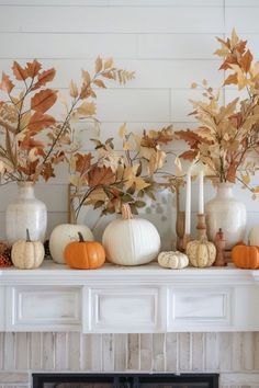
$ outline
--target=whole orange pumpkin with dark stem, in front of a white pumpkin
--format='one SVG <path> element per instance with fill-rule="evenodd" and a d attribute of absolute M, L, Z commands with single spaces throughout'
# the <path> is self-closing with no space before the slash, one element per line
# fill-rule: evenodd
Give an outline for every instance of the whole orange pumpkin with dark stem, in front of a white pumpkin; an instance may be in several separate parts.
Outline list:
<path fill-rule="evenodd" d="M 66 263 L 72 269 L 95 270 L 103 265 L 105 251 L 100 242 L 85 241 L 78 232 L 79 241 L 70 242 L 64 252 Z"/>

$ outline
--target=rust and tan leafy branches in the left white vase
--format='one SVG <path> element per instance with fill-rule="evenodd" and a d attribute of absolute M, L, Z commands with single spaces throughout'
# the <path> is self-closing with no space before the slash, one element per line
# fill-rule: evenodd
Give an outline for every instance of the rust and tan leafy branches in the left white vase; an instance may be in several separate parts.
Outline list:
<path fill-rule="evenodd" d="M 98 57 L 92 77 L 82 70 L 80 87 L 70 82 L 70 101 L 65 103 L 65 117 L 58 119 L 49 114 L 58 99 L 57 90 L 46 87 L 55 78 L 55 69 L 43 70 L 42 64 L 33 60 L 25 67 L 14 61 L 12 71 L 14 80 L 3 72 L 0 82 L 4 94 L 0 101 L 2 182 L 55 176 L 55 167 L 65 160 L 65 148 L 71 142 L 71 121 L 95 115 L 93 87 L 105 88 L 105 79 L 125 83 L 134 78 L 134 72 L 115 68 L 112 58 Z"/>

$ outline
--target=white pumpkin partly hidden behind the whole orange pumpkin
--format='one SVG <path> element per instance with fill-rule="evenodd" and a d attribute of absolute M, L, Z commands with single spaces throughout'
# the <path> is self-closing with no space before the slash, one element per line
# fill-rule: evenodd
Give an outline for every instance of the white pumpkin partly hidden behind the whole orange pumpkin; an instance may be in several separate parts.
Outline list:
<path fill-rule="evenodd" d="M 58 264 L 65 264 L 64 251 L 71 241 L 78 241 L 78 232 L 81 232 L 85 241 L 93 241 L 93 235 L 86 225 L 61 224 L 53 229 L 49 238 L 49 251 L 53 260 Z"/>

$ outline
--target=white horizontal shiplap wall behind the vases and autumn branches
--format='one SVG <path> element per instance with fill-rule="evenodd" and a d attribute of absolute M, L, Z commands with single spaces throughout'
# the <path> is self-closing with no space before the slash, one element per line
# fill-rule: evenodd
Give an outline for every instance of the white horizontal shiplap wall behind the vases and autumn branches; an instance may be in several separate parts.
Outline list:
<path fill-rule="evenodd" d="M 70 79 L 79 80 L 80 69 L 91 69 L 99 54 L 113 56 L 117 66 L 135 70 L 136 79 L 98 93 L 101 136 L 116 136 L 123 122 L 136 132 L 171 122 L 182 128 L 193 125 L 188 99 L 201 94 L 191 82 L 206 78 L 217 87 L 223 80 L 213 56 L 215 35 L 224 37 L 236 26 L 259 57 L 258 18 L 257 0 L 0 0 L 0 69 L 8 71 L 13 59 L 37 58 L 57 69 L 53 87 L 66 92 Z M 226 99 L 233 94 L 227 91 Z M 89 147 L 86 139 L 83 145 Z M 63 169 L 50 187 L 37 189 L 49 210 L 48 232 L 67 219 L 65 182 Z M 193 192 L 195 212 L 196 187 Z M 0 192 L 1 237 L 14 193 L 14 186 Z M 240 187 L 236 193 L 247 205 L 249 226 L 258 224 L 258 201 Z M 212 196 L 207 185 L 206 199 Z"/>

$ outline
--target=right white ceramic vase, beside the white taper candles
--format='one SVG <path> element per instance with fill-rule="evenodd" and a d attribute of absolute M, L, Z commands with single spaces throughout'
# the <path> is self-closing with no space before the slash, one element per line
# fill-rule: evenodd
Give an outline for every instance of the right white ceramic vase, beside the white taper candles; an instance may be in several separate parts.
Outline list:
<path fill-rule="evenodd" d="M 216 196 L 206 204 L 209 239 L 214 241 L 219 228 L 225 233 L 226 249 L 244 240 L 247 224 L 246 206 L 233 195 L 232 183 L 219 183 Z"/>

